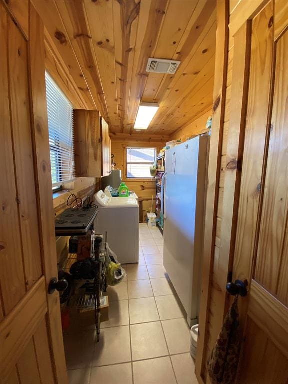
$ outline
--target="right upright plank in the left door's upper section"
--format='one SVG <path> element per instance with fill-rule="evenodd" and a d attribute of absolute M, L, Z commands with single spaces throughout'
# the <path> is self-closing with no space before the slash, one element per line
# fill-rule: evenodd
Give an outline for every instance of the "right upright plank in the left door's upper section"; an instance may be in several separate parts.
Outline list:
<path fill-rule="evenodd" d="M 27 289 L 42 274 L 38 234 L 37 201 L 29 108 L 27 42 L 9 17 L 8 70 L 11 125 L 18 209 L 21 224 L 25 285 Z M 34 236 L 31 236 L 34 233 Z"/>

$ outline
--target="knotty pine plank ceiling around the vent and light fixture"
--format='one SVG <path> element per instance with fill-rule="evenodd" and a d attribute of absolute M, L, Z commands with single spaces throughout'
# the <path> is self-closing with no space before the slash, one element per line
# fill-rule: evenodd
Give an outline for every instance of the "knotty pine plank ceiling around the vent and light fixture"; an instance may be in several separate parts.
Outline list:
<path fill-rule="evenodd" d="M 97 108 L 111 133 L 135 133 L 140 101 L 160 108 L 147 131 L 167 135 L 212 107 L 214 0 L 35 0 L 46 63 L 75 108 Z M 180 60 L 174 75 L 148 57 Z"/>

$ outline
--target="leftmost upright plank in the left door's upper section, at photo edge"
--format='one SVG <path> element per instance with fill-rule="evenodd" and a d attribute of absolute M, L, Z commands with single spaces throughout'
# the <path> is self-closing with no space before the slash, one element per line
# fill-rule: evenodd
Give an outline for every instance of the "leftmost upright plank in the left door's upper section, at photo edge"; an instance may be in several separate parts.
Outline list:
<path fill-rule="evenodd" d="M 8 85 L 8 17 L 1 8 L 1 304 L 3 317 L 26 292 L 14 173 Z"/>

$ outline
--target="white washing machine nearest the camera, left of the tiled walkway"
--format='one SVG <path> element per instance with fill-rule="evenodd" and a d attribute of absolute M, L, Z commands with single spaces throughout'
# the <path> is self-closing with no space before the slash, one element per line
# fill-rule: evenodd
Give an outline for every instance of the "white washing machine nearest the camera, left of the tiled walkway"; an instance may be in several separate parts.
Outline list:
<path fill-rule="evenodd" d="M 95 233 L 105 234 L 121 264 L 139 262 L 139 205 L 134 197 L 109 197 L 99 190 L 93 197 L 98 205 Z"/>

